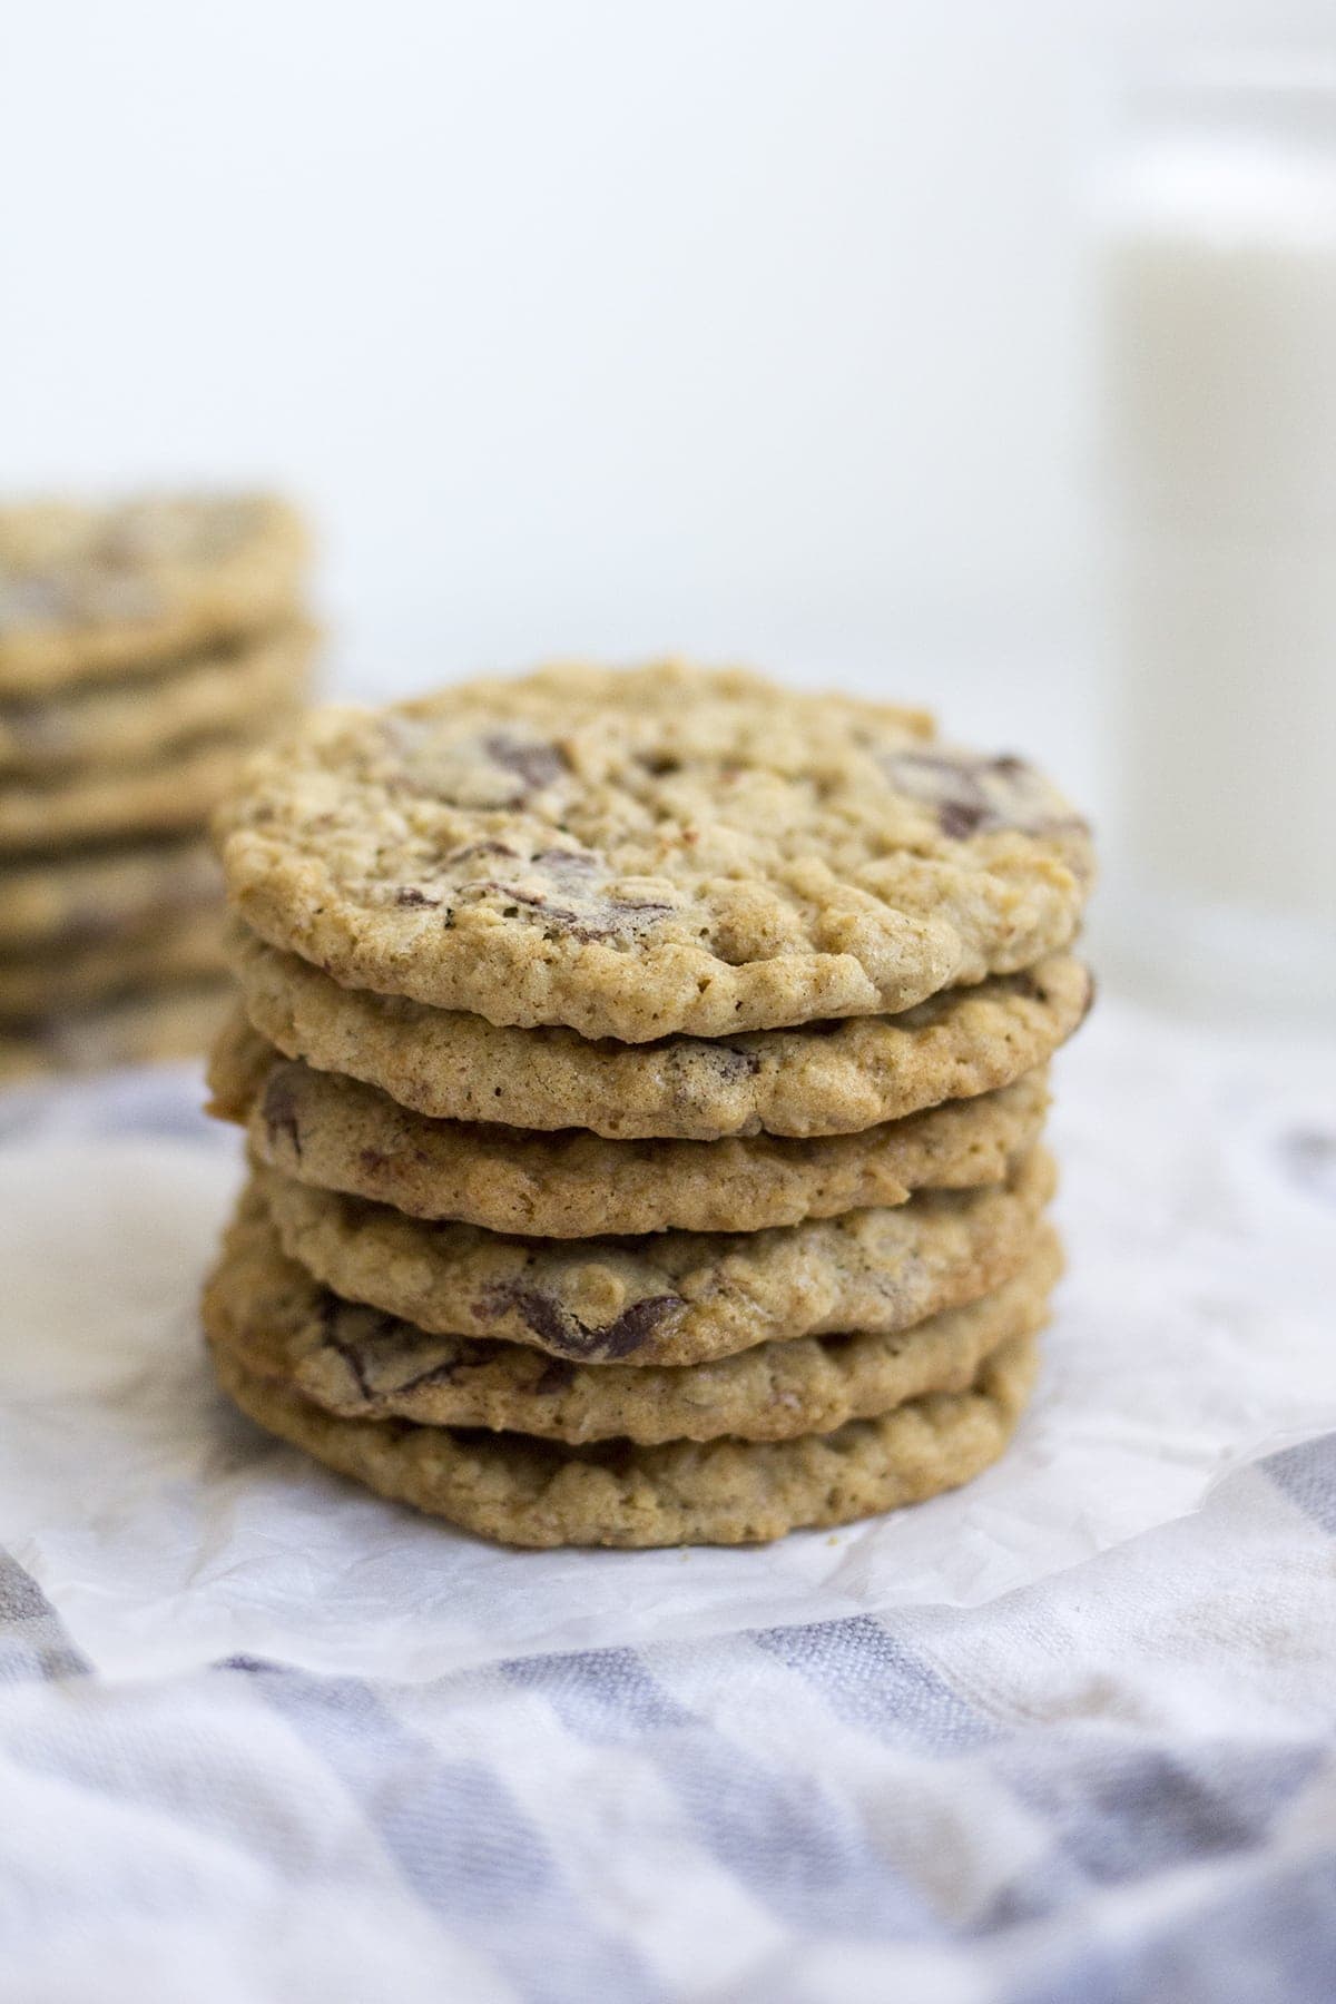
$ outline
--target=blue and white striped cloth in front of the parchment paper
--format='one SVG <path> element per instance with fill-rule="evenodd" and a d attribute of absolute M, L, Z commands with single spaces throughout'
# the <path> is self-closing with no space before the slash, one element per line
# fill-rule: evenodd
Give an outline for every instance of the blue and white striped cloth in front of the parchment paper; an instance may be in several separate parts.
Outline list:
<path fill-rule="evenodd" d="M 0 1621 L 24 2004 L 1336 1996 L 1336 1435 L 967 1611 L 413 1685 Z"/>

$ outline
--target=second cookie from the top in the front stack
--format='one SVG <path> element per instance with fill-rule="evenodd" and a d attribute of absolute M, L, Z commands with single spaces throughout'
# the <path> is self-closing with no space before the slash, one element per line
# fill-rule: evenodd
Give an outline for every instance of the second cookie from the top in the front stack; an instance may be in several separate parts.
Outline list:
<path fill-rule="evenodd" d="M 343 988 L 246 926 L 232 926 L 228 958 L 250 1022 L 288 1058 L 437 1120 L 583 1126 L 609 1140 L 849 1134 L 993 1092 L 1044 1064 L 1092 994 L 1086 968 L 1056 954 L 901 1016 L 615 1044 Z"/>

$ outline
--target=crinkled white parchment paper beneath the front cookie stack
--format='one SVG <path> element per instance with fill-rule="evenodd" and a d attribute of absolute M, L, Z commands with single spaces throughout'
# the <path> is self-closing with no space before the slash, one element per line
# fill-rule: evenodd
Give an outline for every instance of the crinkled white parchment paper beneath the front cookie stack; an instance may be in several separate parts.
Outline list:
<path fill-rule="evenodd" d="M 513 1553 L 270 1443 L 196 1295 L 240 1180 L 188 1072 L 0 1100 L 0 1541 L 110 1675 L 230 1655 L 425 1679 L 903 1603 L 971 1605 L 1336 1427 L 1336 1056 L 1106 1002 L 1058 1064 L 1070 1277 L 1008 1459 L 765 1549 Z"/>

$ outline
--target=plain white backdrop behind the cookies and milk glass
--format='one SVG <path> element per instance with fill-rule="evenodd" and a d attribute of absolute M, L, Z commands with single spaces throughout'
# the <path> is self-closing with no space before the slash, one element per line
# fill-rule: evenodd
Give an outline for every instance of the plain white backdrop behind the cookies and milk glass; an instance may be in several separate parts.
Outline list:
<path fill-rule="evenodd" d="M 677 647 L 1098 792 L 1080 180 L 1130 56 L 1330 0 L 42 0 L 8 489 L 270 479 L 335 675 Z"/>

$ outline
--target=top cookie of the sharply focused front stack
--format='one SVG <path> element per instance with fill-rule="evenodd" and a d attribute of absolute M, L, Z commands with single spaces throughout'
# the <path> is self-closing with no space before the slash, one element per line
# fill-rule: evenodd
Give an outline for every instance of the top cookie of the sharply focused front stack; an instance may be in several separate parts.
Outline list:
<path fill-rule="evenodd" d="M 1020 760 L 673 661 L 316 711 L 218 840 L 246 922 L 347 986 L 631 1044 L 1014 972 L 1070 942 L 1092 874 Z"/>

